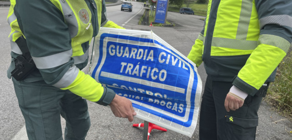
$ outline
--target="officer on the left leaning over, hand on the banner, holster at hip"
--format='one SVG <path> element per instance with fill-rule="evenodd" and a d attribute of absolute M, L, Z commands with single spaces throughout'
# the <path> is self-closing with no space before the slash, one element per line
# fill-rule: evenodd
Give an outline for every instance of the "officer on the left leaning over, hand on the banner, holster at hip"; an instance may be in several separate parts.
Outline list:
<path fill-rule="evenodd" d="M 82 72 L 101 26 L 121 28 L 106 17 L 104 0 L 11 0 L 11 65 L 29 139 L 85 139 L 90 127 L 85 99 L 109 105 L 116 117 L 136 115 L 132 103 Z M 82 99 L 85 98 L 85 99 Z"/>

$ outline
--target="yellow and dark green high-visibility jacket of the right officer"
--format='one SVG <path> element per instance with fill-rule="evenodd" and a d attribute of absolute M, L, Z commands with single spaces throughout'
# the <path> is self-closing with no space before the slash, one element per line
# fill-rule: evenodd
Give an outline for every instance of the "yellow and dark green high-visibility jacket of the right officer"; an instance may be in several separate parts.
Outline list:
<path fill-rule="evenodd" d="M 291 0 L 209 0 L 188 58 L 203 61 L 213 80 L 254 95 L 291 46 L 291 7 Z"/>

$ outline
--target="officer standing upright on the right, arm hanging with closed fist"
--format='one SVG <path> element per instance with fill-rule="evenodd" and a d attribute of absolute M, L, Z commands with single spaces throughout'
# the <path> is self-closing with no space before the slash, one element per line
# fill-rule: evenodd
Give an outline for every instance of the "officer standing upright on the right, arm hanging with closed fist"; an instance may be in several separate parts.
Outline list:
<path fill-rule="evenodd" d="M 207 80 L 200 140 L 252 140 L 257 111 L 292 42 L 291 0 L 210 0 L 188 58 Z"/>

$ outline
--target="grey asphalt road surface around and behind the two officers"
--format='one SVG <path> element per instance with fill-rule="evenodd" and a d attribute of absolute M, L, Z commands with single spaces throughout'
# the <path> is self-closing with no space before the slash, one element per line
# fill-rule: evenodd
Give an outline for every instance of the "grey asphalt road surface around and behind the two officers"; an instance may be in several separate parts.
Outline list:
<path fill-rule="evenodd" d="M 107 7 L 108 18 L 126 29 L 152 30 L 155 34 L 169 43 L 171 46 L 187 56 L 202 30 L 204 18 L 196 15 L 184 15 L 175 12 L 168 12 L 167 19 L 177 24 L 174 27 L 149 27 L 138 25 L 139 18 L 143 15 L 143 3 L 133 2 L 133 11 L 120 11 L 120 6 Z M 10 63 L 10 33 L 9 25 L 6 21 L 8 8 L 0 7 L 0 82 L 1 82 L 1 102 L 0 102 L 0 139 L 1 140 L 26 140 L 24 119 L 18 108 L 17 98 L 14 93 L 13 84 L 6 76 L 6 70 Z M 203 65 L 198 68 L 199 75 L 204 83 L 206 73 Z M 204 84 L 203 84 L 204 87 Z M 133 122 L 127 119 L 116 118 L 110 108 L 99 106 L 88 101 L 91 127 L 86 139 L 88 140 L 137 140 L 143 139 L 143 128 L 133 128 L 133 123 L 141 123 L 143 120 L 135 118 Z M 292 122 L 271 111 L 266 103 L 262 103 L 259 114 L 259 126 L 257 127 L 257 140 L 291 140 Z M 64 121 L 62 121 L 64 126 Z M 198 127 L 191 138 L 168 130 L 162 132 L 152 130 L 150 140 L 198 140 Z M 200 126 L 204 127 L 204 126 Z"/>

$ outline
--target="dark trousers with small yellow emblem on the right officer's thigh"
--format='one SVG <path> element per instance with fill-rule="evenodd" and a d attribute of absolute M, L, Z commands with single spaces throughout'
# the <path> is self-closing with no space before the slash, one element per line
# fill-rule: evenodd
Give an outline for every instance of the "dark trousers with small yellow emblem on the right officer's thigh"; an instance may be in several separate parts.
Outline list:
<path fill-rule="evenodd" d="M 257 111 L 262 97 L 248 95 L 241 108 L 227 112 L 224 101 L 232 82 L 213 81 L 207 76 L 202 97 L 200 140 L 254 140 Z"/>

